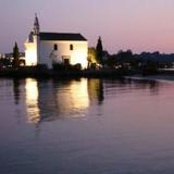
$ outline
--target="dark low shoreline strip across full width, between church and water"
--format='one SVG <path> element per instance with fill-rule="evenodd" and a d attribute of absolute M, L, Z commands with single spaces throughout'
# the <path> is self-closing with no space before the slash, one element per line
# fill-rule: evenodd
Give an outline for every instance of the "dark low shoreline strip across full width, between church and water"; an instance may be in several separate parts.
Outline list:
<path fill-rule="evenodd" d="M 117 79 L 141 79 L 141 80 L 167 80 L 174 82 L 174 72 L 158 72 L 157 74 L 144 75 L 140 72 L 130 70 L 63 70 L 53 71 L 38 67 L 20 67 L 18 70 L 0 70 L 0 78 L 117 78 Z"/>

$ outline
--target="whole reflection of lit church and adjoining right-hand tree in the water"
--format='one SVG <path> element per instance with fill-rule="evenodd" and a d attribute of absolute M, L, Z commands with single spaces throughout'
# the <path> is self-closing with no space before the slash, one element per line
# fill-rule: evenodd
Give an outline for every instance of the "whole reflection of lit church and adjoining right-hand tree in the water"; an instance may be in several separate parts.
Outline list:
<path fill-rule="evenodd" d="M 84 117 L 94 102 L 103 101 L 101 79 L 36 80 L 25 84 L 26 111 L 29 123 L 63 117 Z"/>

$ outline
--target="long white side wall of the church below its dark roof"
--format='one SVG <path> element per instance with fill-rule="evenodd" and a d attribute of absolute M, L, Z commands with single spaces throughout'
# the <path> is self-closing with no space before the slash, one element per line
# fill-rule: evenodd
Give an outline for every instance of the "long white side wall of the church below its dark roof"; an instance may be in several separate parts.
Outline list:
<path fill-rule="evenodd" d="M 58 45 L 58 50 L 54 50 L 54 45 Z M 73 45 L 73 50 L 70 49 Z M 47 64 L 49 69 L 52 63 L 62 63 L 63 57 L 70 58 L 72 65 L 80 63 L 83 69 L 87 67 L 87 41 L 40 41 L 40 64 Z"/>

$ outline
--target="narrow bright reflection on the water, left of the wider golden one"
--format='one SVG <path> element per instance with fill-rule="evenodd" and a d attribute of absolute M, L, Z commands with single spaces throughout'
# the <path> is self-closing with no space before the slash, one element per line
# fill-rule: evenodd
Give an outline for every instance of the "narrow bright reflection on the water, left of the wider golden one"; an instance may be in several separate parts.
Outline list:
<path fill-rule="evenodd" d="M 40 110 L 38 107 L 38 83 L 36 79 L 27 78 L 25 84 L 26 111 L 29 123 L 40 121 Z"/>

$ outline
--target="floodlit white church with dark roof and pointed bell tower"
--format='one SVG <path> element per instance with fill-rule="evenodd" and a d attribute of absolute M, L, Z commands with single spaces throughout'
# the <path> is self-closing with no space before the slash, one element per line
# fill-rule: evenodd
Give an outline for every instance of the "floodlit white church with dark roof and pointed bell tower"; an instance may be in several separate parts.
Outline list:
<path fill-rule="evenodd" d="M 80 34 L 73 33 L 42 33 L 37 15 L 34 29 L 25 41 L 25 65 L 45 64 L 52 69 L 52 64 L 79 63 L 87 67 L 88 42 Z"/>

